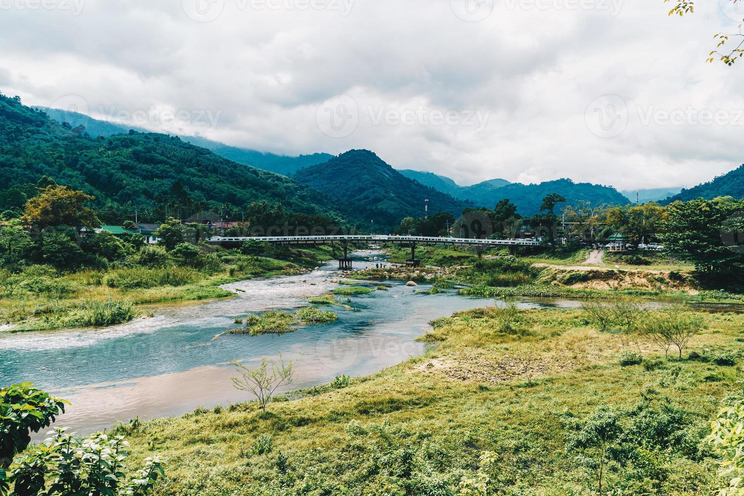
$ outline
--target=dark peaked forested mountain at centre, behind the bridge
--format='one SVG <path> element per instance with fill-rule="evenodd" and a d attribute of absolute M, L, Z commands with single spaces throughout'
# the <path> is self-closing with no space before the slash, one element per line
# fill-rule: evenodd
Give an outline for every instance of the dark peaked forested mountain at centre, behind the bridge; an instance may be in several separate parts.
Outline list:
<path fill-rule="evenodd" d="M 363 149 L 306 167 L 292 177 L 334 196 L 362 219 L 373 220 L 381 228 L 393 228 L 404 217 L 423 216 L 425 199 L 429 199 L 430 213 L 447 211 L 459 216 L 466 206 L 465 202 L 405 177 Z"/>

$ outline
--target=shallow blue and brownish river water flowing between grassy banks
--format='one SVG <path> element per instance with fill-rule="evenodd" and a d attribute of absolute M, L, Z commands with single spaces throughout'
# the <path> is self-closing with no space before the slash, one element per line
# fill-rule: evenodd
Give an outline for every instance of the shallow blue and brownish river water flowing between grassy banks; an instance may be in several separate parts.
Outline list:
<path fill-rule="evenodd" d="M 365 257 L 379 254 L 365 253 Z M 32 381 L 72 405 L 57 422 L 85 434 L 139 416 L 152 419 L 251 399 L 234 389 L 230 361 L 262 357 L 296 363 L 291 389 L 364 376 L 423 352 L 414 341 L 434 318 L 493 300 L 455 291 L 423 294 L 429 286 L 389 283 L 388 291 L 350 297 L 356 310 L 328 307 L 339 319 L 283 335 L 222 335 L 234 318 L 268 309 L 292 310 L 339 287 L 328 263 L 309 274 L 224 286 L 225 300 L 158 306 L 156 316 L 106 329 L 0 334 L 0 384 Z M 357 259 L 355 268 L 374 265 Z M 564 299 L 521 299 L 522 308 L 575 307 Z"/>

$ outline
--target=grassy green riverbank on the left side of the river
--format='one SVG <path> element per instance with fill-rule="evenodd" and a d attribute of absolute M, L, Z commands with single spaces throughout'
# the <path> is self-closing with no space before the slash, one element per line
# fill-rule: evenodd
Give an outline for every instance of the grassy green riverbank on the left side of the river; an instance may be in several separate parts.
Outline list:
<path fill-rule="evenodd" d="M 62 273 L 34 265 L 0 283 L 0 332 L 110 326 L 152 317 L 155 303 L 233 297 L 235 292 L 220 286 L 304 274 L 335 256 L 336 248 L 320 246 L 286 251 L 282 259 L 219 251 L 208 269 L 170 265 Z"/>

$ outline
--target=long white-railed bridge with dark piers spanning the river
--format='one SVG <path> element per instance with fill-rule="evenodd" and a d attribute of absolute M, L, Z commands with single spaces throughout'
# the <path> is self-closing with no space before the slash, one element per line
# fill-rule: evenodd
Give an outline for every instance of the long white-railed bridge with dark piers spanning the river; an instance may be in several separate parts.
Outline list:
<path fill-rule="evenodd" d="M 477 239 L 477 238 L 443 238 L 437 236 L 393 236 L 389 234 L 347 234 L 341 236 L 213 236 L 207 239 L 215 245 L 222 243 L 236 243 L 246 241 L 269 242 L 275 245 L 327 245 L 329 243 L 340 243 L 344 246 L 344 258 L 339 259 L 339 269 L 349 270 L 351 259 L 349 258 L 349 243 L 394 243 L 396 245 L 410 245 L 411 259 L 405 260 L 406 265 L 418 267 L 420 260 L 416 260 L 416 245 L 452 245 L 452 246 L 475 246 L 478 257 L 485 248 L 495 246 L 508 246 L 510 250 L 516 250 L 518 246 L 541 246 L 542 243 L 526 239 Z"/>

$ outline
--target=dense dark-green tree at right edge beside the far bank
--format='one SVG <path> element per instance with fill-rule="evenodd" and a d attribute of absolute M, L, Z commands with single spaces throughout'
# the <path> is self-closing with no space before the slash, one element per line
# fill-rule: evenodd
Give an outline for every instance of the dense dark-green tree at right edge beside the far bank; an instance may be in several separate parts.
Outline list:
<path fill-rule="evenodd" d="M 730 196 L 673 202 L 661 222 L 664 247 L 709 280 L 736 279 L 744 273 L 743 212 L 744 200 Z"/>

